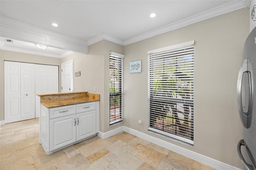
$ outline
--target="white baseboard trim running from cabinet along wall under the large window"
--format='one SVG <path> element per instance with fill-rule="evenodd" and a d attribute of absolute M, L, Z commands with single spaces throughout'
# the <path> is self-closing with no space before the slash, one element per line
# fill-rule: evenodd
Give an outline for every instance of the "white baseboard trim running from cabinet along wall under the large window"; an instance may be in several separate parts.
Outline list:
<path fill-rule="evenodd" d="M 114 130 L 110 130 L 108 132 L 99 132 L 98 133 L 98 136 L 100 138 L 108 138 L 114 134 L 117 134 L 119 132 L 128 132 L 130 134 L 133 134 L 134 136 L 138 136 L 144 140 L 147 140 L 151 143 L 154 143 L 154 144 L 157 144 L 159 146 L 162 146 L 168 150 L 171 150 L 173 152 L 176 152 L 178 154 L 181 154 L 183 156 L 186 156 L 192 160 L 196 160 L 197 162 L 200 162 L 202 164 L 205 164 L 207 166 L 210 166 L 212 168 L 215 168 L 217 170 L 241 170 L 240 168 L 236 168 L 234 166 L 231 166 L 229 164 L 226 164 L 224 162 L 220 162 L 218 160 L 215 160 L 213 158 L 210 158 L 208 156 L 204 156 L 202 154 L 198 154 L 196 152 L 193 152 L 191 150 L 188 150 L 186 148 L 182 148 L 180 146 L 177 146 L 175 144 L 172 144 L 172 143 L 169 143 L 169 142 L 166 142 L 164 140 L 161 140 L 159 138 L 155 138 L 154 136 L 150 136 L 148 134 L 145 134 L 145 133 L 142 133 L 142 132 L 139 132 L 138 130 L 134 130 L 132 128 L 128 128 L 128 127 L 125 127 L 125 126 L 122 126 L 122 127 L 118 127 Z"/>

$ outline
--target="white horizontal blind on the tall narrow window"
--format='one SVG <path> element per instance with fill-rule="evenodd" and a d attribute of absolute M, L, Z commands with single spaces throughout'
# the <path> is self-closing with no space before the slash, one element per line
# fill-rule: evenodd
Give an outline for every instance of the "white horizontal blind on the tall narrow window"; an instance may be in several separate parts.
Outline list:
<path fill-rule="evenodd" d="M 123 60 L 124 55 L 110 52 L 109 63 L 109 124 L 123 120 Z"/>

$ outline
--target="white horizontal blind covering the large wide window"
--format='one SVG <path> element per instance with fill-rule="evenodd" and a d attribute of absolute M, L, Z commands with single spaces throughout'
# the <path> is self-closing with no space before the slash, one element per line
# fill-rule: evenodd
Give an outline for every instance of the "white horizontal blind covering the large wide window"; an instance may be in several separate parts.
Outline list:
<path fill-rule="evenodd" d="M 148 53 L 148 130 L 194 144 L 194 42 Z"/>

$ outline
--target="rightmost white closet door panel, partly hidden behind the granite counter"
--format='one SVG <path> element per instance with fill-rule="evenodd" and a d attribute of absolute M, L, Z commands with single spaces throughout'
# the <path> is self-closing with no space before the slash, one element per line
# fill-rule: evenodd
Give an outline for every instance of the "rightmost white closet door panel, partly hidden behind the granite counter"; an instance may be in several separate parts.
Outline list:
<path fill-rule="evenodd" d="M 59 93 L 59 67 L 54 65 L 48 65 L 48 92 L 47 93 Z"/>

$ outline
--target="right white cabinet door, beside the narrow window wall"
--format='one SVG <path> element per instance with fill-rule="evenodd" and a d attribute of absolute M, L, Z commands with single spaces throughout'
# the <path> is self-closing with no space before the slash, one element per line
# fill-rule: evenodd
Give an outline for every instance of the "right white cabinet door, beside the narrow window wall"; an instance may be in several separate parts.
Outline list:
<path fill-rule="evenodd" d="M 96 111 L 76 114 L 76 140 L 96 134 Z"/>

